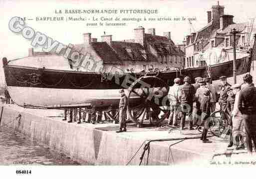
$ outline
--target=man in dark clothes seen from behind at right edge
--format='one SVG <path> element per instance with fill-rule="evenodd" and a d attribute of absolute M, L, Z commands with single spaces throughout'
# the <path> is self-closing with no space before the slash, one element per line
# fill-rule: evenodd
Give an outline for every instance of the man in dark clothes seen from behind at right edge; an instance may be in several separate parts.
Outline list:
<path fill-rule="evenodd" d="M 240 92 L 238 105 L 244 119 L 247 151 L 252 154 L 252 140 L 256 148 L 256 87 L 253 85 L 252 75 L 246 74 L 243 80 L 247 86 Z"/>

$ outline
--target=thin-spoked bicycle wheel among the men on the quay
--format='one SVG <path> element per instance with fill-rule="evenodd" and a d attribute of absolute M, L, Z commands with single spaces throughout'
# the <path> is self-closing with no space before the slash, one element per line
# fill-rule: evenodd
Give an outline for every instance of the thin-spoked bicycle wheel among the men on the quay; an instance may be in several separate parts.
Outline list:
<path fill-rule="evenodd" d="M 229 127 L 229 115 L 224 111 L 215 111 L 210 116 L 210 130 L 214 135 L 221 135 Z"/>

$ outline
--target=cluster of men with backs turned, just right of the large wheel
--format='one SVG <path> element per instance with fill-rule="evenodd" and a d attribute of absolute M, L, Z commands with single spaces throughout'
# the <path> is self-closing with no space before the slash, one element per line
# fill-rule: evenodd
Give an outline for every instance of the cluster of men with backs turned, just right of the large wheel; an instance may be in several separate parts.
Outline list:
<path fill-rule="evenodd" d="M 224 79 L 225 77 L 222 77 Z M 204 130 L 201 140 L 204 143 L 210 143 L 207 139 L 209 129 L 209 116 L 215 111 L 216 90 L 211 84 L 211 78 L 197 77 L 196 83 L 191 84 L 191 78 L 186 76 L 184 84 L 181 85 L 181 79 L 174 79 L 174 85 L 170 87 L 168 98 L 170 101 L 170 116 L 168 124 L 177 126 L 177 119 L 181 114 L 180 129 L 185 129 L 185 119 L 188 115 L 188 129 L 193 130 L 194 126 L 203 125 Z M 223 94 L 221 94 L 223 96 Z M 200 121 L 200 123 L 198 123 Z"/>

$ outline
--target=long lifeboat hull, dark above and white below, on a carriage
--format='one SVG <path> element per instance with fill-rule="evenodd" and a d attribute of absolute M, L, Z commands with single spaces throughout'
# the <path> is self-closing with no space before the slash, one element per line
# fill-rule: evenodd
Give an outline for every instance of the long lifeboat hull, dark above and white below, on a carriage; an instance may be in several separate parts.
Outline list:
<path fill-rule="evenodd" d="M 237 60 L 237 73 L 250 72 L 252 59 L 247 56 Z M 72 106 L 117 106 L 119 90 L 128 88 L 133 81 L 145 76 L 145 73 L 107 74 L 51 70 L 8 65 L 3 59 L 7 89 L 14 102 L 23 107 L 63 108 Z M 150 72 L 147 76 L 157 76 L 168 86 L 173 85 L 177 77 L 206 76 L 206 67 L 189 68 L 180 71 Z M 210 74 L 213 80 L 220 76 L 233 76 L 233 61 L 212 65 Z M 192 80 L 194 82 L 194 80 Z M 151 84 L 150 81 L 146 83 Z M 156 86 L 157 87 L 157 86 Z M 128 91 L 126 90 L 126 94 Z M 138 100 L 138 97 L 134 102 Z"/>

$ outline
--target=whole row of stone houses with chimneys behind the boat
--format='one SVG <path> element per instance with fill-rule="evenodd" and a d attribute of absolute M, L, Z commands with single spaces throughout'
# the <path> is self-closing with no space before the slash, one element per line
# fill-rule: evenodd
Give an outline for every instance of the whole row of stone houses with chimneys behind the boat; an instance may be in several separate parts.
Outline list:
<path fill-rule="evenodd" d="M 93 38 L 90 32 L 83 34 L 83 43 L 75 44 L 80 53 L 89 52 L 99 61 L 101 68 L 108 71 L 113 66 L 124 71 L 148 71 L 149 69 L 177 69 L 216 64 L 229 60 L 233 45 L 231 30 L 236 28 L 238 46 L 247 49 L 250 45 L 250 33 L 255 32 L 248 23 L 235 23 L 234 16 L 224 14 L 224 6 L 213 5 L 207 11 L 208 23 L 198 31 L 186 36 L 182 44 L 176 44 L 171 32 L 157 35 L 155 28 L 145 32 L 144 27 L 134 29 L 133 39 L 114 41 L 112 35 L 102 35 L 101 41 Z M 104 32 L 105 33 L 105 32 Z M 29 56 L 43 55 L 29 51 Z M 83 71 L 84 69 L 74 69 Z"/>

